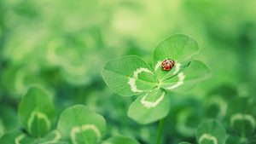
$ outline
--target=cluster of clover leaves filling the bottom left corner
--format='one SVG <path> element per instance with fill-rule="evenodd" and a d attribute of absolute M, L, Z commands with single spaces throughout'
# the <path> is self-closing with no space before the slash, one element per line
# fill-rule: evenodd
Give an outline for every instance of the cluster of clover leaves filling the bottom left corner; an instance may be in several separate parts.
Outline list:
<path fill-rule="evenodd" d="M 105 119 L 83 105 L 64 110 L 55 127 L 54 105 L 45 90 L 38 86 L 32 86 L 23 95 L 18 113 L 22 131 L 3 135 L 1 144 L 138 144 L 123 136 L 102 141 L 107 129 Z"/>

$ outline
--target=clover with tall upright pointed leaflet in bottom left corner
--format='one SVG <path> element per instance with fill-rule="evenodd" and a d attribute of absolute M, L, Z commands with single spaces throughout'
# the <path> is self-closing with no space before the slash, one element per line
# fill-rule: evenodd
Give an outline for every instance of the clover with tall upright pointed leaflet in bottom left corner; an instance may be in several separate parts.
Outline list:
<path fill-rule="evenodd" d="M 67 144 L 61 140 L 55 127 L 55 107 L 47 92 L 32 86 L 22 96 L 18 108 L 20 124 L 24 131 L 15 131 L 3 135 L 0 144 Z"/>

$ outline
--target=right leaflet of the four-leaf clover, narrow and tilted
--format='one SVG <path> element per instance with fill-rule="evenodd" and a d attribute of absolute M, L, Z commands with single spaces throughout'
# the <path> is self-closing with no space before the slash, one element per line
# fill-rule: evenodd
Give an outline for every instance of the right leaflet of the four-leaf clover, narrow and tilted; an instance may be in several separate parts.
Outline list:
<path fill-rule="evenodd" d="M 178 72 L 172 78 L 166 79 L 160 87 L 166 90 L 182 92 L 191 89 L 195 84 L 209 78 L 210 69 L 199 60 L 192 60 L 183 72 Z"/>

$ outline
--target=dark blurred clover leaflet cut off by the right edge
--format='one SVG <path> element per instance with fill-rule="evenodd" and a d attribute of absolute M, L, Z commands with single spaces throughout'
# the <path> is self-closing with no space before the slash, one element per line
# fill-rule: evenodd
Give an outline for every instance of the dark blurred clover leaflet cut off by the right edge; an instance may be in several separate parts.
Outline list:
<path fill-rule="evenodd" d="M 230 135 L 227 144 L 253 144 L 256 141 L 255 99 L 238 97 L 230 101 L 225 124 Z"/>

